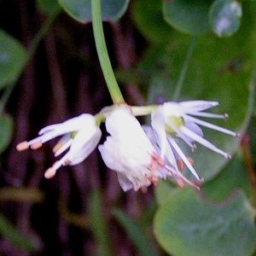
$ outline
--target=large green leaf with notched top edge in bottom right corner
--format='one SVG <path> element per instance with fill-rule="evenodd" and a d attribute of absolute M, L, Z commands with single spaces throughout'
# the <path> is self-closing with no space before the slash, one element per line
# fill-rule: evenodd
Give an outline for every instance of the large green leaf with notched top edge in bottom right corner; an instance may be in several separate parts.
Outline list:
<path fill-rule="evenodd" d="M 154 234 L 172 255 L 249 256 L 256 247 L 254 217 L 241 192 L 216 204 L 187 188 L 160 205 Z"/>

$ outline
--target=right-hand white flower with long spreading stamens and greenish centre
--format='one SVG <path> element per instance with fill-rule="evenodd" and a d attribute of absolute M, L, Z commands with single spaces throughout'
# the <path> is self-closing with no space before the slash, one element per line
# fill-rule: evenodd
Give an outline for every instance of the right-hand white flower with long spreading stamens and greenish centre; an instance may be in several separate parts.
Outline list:
<path fill-rule="evenodd" d="M 213 108 L 218 105 L 218 102 L 207 101 L 188 101 L 188 102 L 166 102 L 154 110 L 151 115 L 151 124 L 157 134 L 160 146 L 160 156 L 166 159 L 175 166 L 176 159 L 172 151 L 177 154 L 184 164 L 189 168 L 189 171 L 199 179 L 194 167 L 190 164 L 183 151 L 177 145 L 175 137 L 180 137 L 189 145 L 192 150 L 195 150 L 194 142 L 212 149 L 218 154 L 223 154 L 224 157 L 230 158 L 230 154 L 217 148 L 212 143 L 203 138 L 201 126 L 205 126 L 215 131 L 220 131 L 231 136 L 237 137 L 238 134 L 218 125 L 212 125 L 194 116 L 224 119 L 227 114 L 216 114 L 203 112 L 208 108 Z"/>

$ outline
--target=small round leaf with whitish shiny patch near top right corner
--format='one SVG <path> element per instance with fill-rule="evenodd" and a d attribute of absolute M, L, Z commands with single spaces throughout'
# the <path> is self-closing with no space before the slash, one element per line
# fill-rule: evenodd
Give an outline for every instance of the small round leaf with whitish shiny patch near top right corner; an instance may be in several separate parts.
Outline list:
<path fill-rule="evenodd" d="M 210 9 L 209 20 L 212 31 L 218 37 L 231 36 L 241 23 L 241 3 L 234 0 L 216 0 Z"/>

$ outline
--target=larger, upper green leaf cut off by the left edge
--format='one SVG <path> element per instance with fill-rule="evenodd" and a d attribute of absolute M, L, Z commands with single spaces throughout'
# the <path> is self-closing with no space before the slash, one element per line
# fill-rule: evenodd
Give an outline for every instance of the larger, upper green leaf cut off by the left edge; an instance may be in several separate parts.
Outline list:
<path fill-rule="evenodd" d="M 26 63 L 26 50 L 0 29 L 0 90 L 19 78 Z"/>

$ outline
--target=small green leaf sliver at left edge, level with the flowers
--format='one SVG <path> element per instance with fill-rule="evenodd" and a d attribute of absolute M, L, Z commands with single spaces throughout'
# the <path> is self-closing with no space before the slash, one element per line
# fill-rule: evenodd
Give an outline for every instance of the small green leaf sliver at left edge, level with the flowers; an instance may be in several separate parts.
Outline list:
<path fill-rule="evenodd" d="M 0 154 L 2 154 L 3 151 L 9 146 L 10 140 L 13 135 L 13 119 L 9 115 L 0 116 L 0 127 Z"/>

